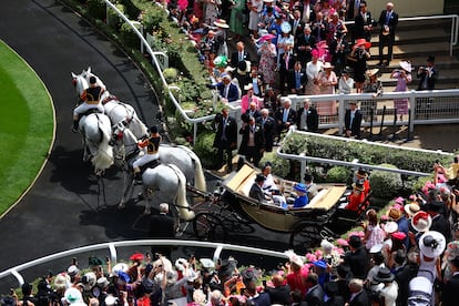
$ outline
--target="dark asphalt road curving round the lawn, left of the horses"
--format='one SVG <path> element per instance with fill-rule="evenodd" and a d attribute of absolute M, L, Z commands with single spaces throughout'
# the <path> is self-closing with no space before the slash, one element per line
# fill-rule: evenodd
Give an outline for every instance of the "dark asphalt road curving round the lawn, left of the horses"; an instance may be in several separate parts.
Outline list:
<path fill-rule="evenodd" d="M 133 227 L 142 207 L 131 207 L 129 213 L 115 210 L 121 198 L 121 173 L 113 170 L 103 180 L 94 180 L 91 167 L 82 162 L 81 136 L 70 130 L 76 101 L 70 72 L 81 73 L 91 67 L 108 89 L 132 104 L 150 125 L 156 123 L 157 103 L 144 75 L 119 48 L 59 1 L 7 1 L 0 20 L 0 39 L 48 88 L 57 123 L 43 172 L 0 220 L 0 271 L 78 246 L 145 237 Z M 2 292 L 7 293 L 0 286 Z"/>

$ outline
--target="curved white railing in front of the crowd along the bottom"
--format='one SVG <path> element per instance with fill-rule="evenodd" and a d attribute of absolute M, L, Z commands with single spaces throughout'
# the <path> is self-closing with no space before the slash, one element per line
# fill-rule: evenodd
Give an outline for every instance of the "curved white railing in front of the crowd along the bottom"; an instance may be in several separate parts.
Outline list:
<path fill-rule="evenodd" d="M 14 276 L 21 286 L 24 283 L 24 279 L 20 272 L 26 271 L 28 268 L 32 268 L 45 263 L 50 263 L 60 258 L 71 257 L 73 255 L 83 254 L 93 251 L 100 249 L 108 249 L 110 252 L 110 258 L 112 263 L 116 263 L 118 261 L 118 251 L 116 248 L 121 247 L 131 247 L 131 246 L 152 246 L 152 245 L 165 245 L 165 246 L 192 246 L 192 247 L 200 247 L 200 248 L 212 248 L 214 249 L 213 259 L 216 262 L 221 257 L 221 253 L 223 251 L 235 251 L 235 252 L 244 252 L 255 255 L 262 256 L 271 256 L 271 257 L 278 257 L 278 258 L 288 258 L 285 253 L 275 252 L 269 249 L 263 249 L 258 247 L 248 247 L 248 246 L 239 246 L 239 245 L 232 245 L 232 244 L 223 244 L 223 243 L 213 243 L 213 242 L 197 242 L 197 241 L 178 241 L 178 239 L 140 239 L 140 241 L 122 241 L 122 242 L 109 242 L 109 243 L 101 243 L 94 244 L 89 246 L 82 246 L 73 249 L 68 249 L 64 252 L 55 253 L 49 256 L 44 256 L 3 272 L 0 272 L 0 279 L 7 276 Z"/>

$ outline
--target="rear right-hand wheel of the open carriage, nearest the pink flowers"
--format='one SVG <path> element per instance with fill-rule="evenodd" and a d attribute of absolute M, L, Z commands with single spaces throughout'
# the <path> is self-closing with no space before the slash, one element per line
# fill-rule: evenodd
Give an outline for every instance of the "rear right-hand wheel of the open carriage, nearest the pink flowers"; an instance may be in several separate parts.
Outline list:
<path fill-rule="evenodd" d="M 320 241 L 320 228 L 317 224 L 300 224 L 290 234 L 290 247 L 297 254 L 306 254 L 316 247 Z"/>

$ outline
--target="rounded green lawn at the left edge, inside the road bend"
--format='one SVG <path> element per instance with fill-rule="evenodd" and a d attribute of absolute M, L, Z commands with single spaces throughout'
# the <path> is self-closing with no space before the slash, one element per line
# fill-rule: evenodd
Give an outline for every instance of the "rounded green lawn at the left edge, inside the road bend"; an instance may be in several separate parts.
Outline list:
<path fill-rule="evenodd" d="M 28 190 L 54 135 L 51 96 L 37 73 L 0 41 L 0 215 Z"/>

